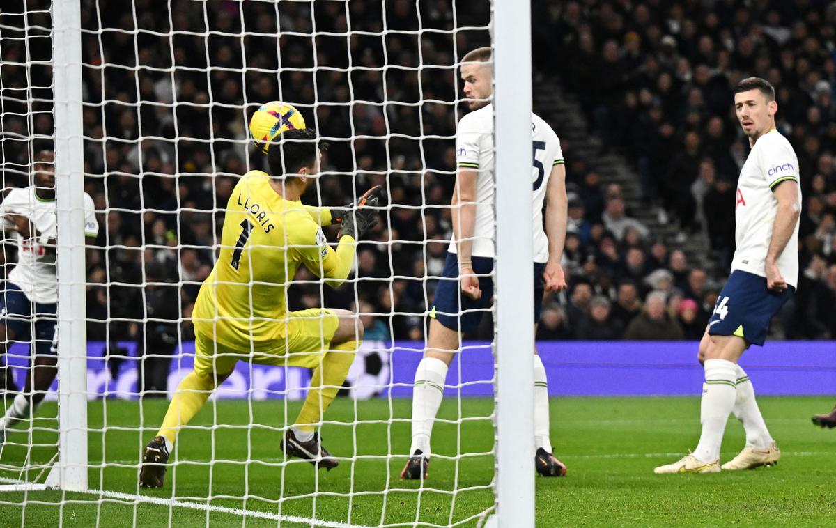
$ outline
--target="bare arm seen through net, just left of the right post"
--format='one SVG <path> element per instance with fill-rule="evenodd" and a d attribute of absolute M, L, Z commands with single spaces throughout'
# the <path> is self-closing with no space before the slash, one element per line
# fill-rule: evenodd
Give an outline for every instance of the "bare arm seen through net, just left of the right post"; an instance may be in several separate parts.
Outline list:
<path fill-rule="evenodd" d="M 473 299 L 482 297 L 479 279 L 473 273 L 472 262 L 473 231 L 476 229 L 476 181 L 476 170 L 459 169 L 450 201 L 453 237 L 456 240 L 459 258 L 461 292 Z"/>

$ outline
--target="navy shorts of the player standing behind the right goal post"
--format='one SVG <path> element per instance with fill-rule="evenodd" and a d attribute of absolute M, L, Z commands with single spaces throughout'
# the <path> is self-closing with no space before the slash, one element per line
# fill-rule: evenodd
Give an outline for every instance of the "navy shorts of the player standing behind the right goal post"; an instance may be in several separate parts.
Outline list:
<path fill-rule="evenodd" d="M 482 322 L 482 315 L 490 310 L 493 303 L 493 258 L 473 256 L 473 272 L 479 275 L 479 289 L 482 297 L 474 301 L 461 295 L 459 286 L 459 259 L 454 253 L 447 253 L 444 270 L 436 288 L 436 299 L 430 310 L 430 317 L 451 330 L 475 333 Z M 546 265 L 534 263 L 534 322 L 540 320 L 540 306 L 543 304 L 543 270 Z M 461 308 L 460 308 L 461 302 Z"/>

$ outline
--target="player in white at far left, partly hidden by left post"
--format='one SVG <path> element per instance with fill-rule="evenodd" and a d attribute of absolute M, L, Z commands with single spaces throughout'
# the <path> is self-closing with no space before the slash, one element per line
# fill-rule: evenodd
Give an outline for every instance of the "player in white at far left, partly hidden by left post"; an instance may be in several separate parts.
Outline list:
<path fill-rule="evenodd" d="M 8 274 L 0 297 L 0 343 L 32 343 L 31 368 L 23 393 L 0 419 L 0 444 L 9 428 L 29 419 L 58 373 L 58 277 L 55 271 L 55 153 L 41 150 L 33 166 L 33 183 L 10 190 L 0 204 L 6 236 L 16 239 L 18 263 Z M 93 244 L 99 233 L 93 199 L 84 194 L 84 235 Z"/>

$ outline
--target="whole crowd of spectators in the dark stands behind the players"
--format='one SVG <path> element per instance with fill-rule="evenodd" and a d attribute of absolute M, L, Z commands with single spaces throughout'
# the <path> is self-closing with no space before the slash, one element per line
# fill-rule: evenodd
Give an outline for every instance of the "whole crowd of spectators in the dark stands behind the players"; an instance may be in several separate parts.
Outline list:
<path fill-rule="evenodd" d="M 455 57 L 486 43 L 487 31 L 372 34 L 417 30 L 407 0 L 385 13 L 364 0 L 314 3 L 314 13 L 308 3 L 173 0 L 171 17 L 151 15 L 151 0 L 135 4 L 145 13 L 136 22 L 130 9 L 82 9 L 86 190 L 102 226 L 88 256 L 89 338 L 161 349 L 193 337 L 187 317 L 212 269 L 223 207 L 237 177 L 266 170 L 248 145 L 247 116 L 278 99 L 329 142 L 327 175 L 308 203 L 343 205 L 371 185 L 390 191 L 390 210 L 359 244 L 357 281 L 332 290 L 300 273 L 290 308 L 324 301 L 362 312 L 367 339 L 423 339 L 435 287 L 427 277 L 441 274 L 451 233 Z M 533 5 L 542 11 L 535 49 L 548 50 L 536 53 L 537 68 L 579 94 L 592 132 L 634 161 L 644 205 L 658 204 L 686 233 L 705 230 L 719 262 L 692 265 L 630 217 L 594 160 L 566 150 L 569 290 L 547 297 L 538 338 L 701 337 L 733 251 L 747 146 L 731 87 L 749 74 L 777 87 L 779 126 L 802 165 L 803 278 L 777 327 L 785 338 L 836 338 L 836 7 L 720 0 L 697 18 L 695 4 Z M 802 4 L 808 14 L 787 25 Z M 452 5 L 422 2 L 421 28 L 451 30 Z M 481 27 L 487 17 L 460 8 L 456 23 Z M 349 28 L 369 33 L 347 38 Z M 287 33 L 276 38 L 278 29 Z M 4 83 L 13 74 L 3 69 Z M 51 125 L 33 122 L 41 134 Z M 15 127 L 26 123 L 5 129 Z M 22 174 L 3 177 L 6 187 L 28 185 Z M 474 337 L 490 335 L 486 323 Z"/>

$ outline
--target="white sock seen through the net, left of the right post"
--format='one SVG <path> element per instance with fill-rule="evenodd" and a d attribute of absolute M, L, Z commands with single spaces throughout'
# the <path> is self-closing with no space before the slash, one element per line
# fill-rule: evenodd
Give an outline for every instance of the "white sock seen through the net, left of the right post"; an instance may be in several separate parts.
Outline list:
<path fill-rule="evenodd" d="M 441 399 L 444 398 L 444 380 L 447 365 L 441 359 L 423 358 L 415 369 L 415 385 L 412 387 L 412 446 L 430 456 L 430 436 Z"/>

